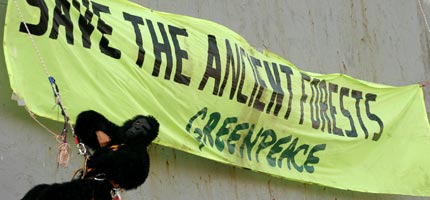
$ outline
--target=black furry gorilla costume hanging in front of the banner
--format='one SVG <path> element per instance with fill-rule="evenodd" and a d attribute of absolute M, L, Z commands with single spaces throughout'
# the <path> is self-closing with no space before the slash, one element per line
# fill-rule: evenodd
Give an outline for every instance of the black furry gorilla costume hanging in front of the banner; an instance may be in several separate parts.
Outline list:
<path fill-rule="evenodd" d="M 158 136 L 158 130 L 159 124 L 152 116 L 138 115 L 120 127 L 95 111 L 80 113 L 75 133 L 94 150 L 87 161 L 88 173 L 83 179 L 37 185 L 23 200 L 111 200 L 113 185 L 125 190 L 139 187 L 149 173 L 147 146 Z M 110 137 L 109 145 L 100 147 L 96 131 Z"/>

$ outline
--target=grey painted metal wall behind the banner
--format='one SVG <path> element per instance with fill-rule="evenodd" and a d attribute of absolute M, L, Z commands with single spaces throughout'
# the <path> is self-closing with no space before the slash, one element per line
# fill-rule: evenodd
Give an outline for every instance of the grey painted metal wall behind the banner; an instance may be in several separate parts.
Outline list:
<path fill-rule="evenodd" d="M 0 27 L 6 1 L 0 0 Z M 258 49 L 269 49 L 306 71 L 397 86 L 430 80 L 430 34 L 413 0 L 136 2 L 223 24 Z M 424 6 L 430 16 L 430 5 Z M 0 198 L 19 199 L 35 184 L 68 181 L 82 158 L 72 146 L 70 166 L 57 168 L 57 142 L 10 100 L 4 65 L 0 48 Z M 59 123 L 40 120 L 61 130 Z M 159 145 L 150 147 L 150 155 L 149 179 L 138 190 L 123 193 L 123 199 L 430 199 L 291 182 Z"/>

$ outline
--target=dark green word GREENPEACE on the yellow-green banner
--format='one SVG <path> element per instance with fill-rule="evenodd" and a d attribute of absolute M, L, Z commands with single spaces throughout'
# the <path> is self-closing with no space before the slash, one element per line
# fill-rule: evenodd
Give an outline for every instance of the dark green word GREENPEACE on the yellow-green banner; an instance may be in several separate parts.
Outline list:
<path fill-rule="evenodd" d="M 202 122 L 206 122 L 203 127 L 196 125 Z M 246 154 L 249 161 L 255 159 L 256 162 L 265 157 L 271 167 L 282 168 L 286 162 L 289 170 L 294 168 L 298 172 L 313 173 L 320 160 L 316 154 L 326 148 L 326 144 L 300 144 L 299 138 L 292 135 L 282 134 L 286 136 L 279 138 L 272 129 L 262 127 L 256 131 L 255 124 L 238 122 L 237 117 L 222 117 L 219 112 L 208 113 L 206 107 L 190 118 L 185 129 L 200 143 L 200 149 L 208 146 L 220 152 L 239 154 L 241 158 Z"/>

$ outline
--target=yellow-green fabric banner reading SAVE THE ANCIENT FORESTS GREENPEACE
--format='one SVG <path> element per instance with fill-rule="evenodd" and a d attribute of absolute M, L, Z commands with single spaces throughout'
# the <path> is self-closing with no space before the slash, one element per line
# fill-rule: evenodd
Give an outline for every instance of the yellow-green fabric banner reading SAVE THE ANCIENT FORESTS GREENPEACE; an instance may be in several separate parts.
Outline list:
<path fill-rule="evenodd" d="M 219 24 L 125 0 L 11 0 L 4 37 L 12 89 L 37 115 L 58 120 L 52 76 L 72 120 L 87 109 L 117 123 L 151 114 L 156 143 L 218 162 L 430 196 L 419 85 L 305 72 Z"/>

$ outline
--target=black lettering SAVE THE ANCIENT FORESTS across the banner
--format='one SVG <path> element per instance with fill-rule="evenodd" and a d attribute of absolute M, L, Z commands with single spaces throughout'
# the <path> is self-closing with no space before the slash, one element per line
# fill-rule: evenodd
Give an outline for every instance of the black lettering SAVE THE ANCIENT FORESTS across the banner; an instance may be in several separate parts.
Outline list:
<path fill-rule="evenodd" d="M 192 47 L 186 46 L 186 40 L 195 39 L 190 35 L 196 34 L 123 11 L 120 19 L 129 27 L 127 36 L 135 38 L 135 51 L 126 52 L 110 42 L 115 39 L 112 35 L 114 22 L 106 20 L 106 16 L 118 13 L 111 13 L 109 6 L 89 0 L 56 0 L 54 8 L 49 8 L 44 0 L 26 2 L 40 13 L 37 24 L 27 23 L 33 35 L 43 36 L 49 32 L 50 39 L 58 40 L 64 29 L 67 43 L 75 45 L 76 31 L 73 30 L 78 27 L 82 47 L 90 49 L 93 42 L 98 42 L 100 52 L 113 59 L 121 59 L 124 54 L 135 55 L 139 68 L 152 64 L 154 77 L 164 73 L 165 80 L 188 87 L 198 81 L 194 85 L 198 85 L 200 91 L 211 92 L 216 97 L 228 96 L 230 101 L 285 120 L 297 113 L 300 116 L 294 123 L 324 133 L 373 141 L 378 141 L 383 134 L 383 119 L 372 109 L 377 94 L 314 78 L 285 63 L 257 58 L 228 38 L 206 35 L 207 44 L 200 45 L 207 47 L 207 52 L 195 59 L 199 55 L 189 55 Z M 72 9 L 79 14 L 72 15 Z M 24 23 L 20 24 L 19 31 L 27 32 Z M 101 36 L 91 37 L 96 32 Z M 93 41 L 96 39 L 98 41 Z M 143 45 L 145 39 L 152 42 L 152 47 Z M 150 60 L 145 59 L 147 49 L 153 49 L 153 63 L 146 63 Z M 198 61 L 186 63 L 189 60 Z M 165 67 L 164 72 L 161 72 L 162 67 Z M 185 67 L 192 68 L 193 73 L 186 74 Z M 345 102 L 349 102 L 349 106 Z"/>

